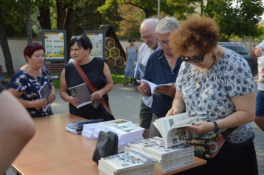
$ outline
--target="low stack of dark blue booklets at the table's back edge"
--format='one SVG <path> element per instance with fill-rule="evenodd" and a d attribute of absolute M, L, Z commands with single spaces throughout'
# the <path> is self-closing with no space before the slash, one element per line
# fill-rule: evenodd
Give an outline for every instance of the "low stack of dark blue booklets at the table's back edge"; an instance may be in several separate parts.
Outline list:
<path fill-rule="evenodd" d="M 97 123 L 97 122 L 101 122 L 103 121 L 103 119 L 97 119 L 97 120 L 85 120 L 85 121 L 80 121 L 80 122 L 71 122 L 68 123 L 66 126 L 66 130 L 69 132 L 72 132 L 74 134 L 81 134 L 82 129 L 83 129 L 83 125 L 84 124 L 88 124 L 88 123 Z"/>

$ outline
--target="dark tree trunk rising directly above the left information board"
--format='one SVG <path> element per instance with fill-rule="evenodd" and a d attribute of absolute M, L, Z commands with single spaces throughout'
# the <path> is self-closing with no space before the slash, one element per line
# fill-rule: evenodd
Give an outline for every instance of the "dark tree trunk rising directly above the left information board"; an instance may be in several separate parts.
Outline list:
<path fill-rule="evenodd" d="M 43 4 L 44 6 L 44 4 Z M 38 7 L 39 9 L 39 15 L 38 21 L 40 23 L 40 26 L 42 29 L 50 29 L 51 30 L 51 13 L 50 13 L 50 7 Z"/>

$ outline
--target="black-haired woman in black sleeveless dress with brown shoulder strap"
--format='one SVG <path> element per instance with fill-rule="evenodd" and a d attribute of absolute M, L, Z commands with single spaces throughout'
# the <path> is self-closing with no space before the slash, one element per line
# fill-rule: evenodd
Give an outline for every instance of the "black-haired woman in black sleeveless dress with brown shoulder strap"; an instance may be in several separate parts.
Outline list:
<path fill-rule="evenodd" d="M 107 93 L 113 89 L 113 81 L 105 58 L 91 57 L 89 55 L 92 49 L 92 44 L 87 36 L 73 36 L 70 42 L 70 48 L 73 60 L 81 66 L 81 69 L 84 71 L 90 82 L 98 89 L 98 91 L 92 92 L 87 86 L 91 94 L 91 101 L 100 100 L 103 97 L 109 106 Z M 69 102 L 69 112 L 89 120 L 100 118 L 103 118 L 103 121 L 111 120 L 102 103 L 97 109 L 90 104 L 79 108 L 76 107 L 79 104 L 80 99 L 78 97 L 73 98 L 68 88 L 83 83 L 85 82 L 74 67 L 73 63 L 64 66 L 64 70 L 61 73 L 59 93 L 63 100 Z"/>

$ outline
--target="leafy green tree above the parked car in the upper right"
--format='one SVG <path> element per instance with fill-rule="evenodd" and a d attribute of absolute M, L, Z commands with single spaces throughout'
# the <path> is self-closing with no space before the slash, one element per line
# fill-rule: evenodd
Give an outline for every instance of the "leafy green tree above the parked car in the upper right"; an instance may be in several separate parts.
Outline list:
<path fill-rule="evenodd" d="M 231 36 L 260 36 L 263 31 L 256 24 L 263 11 L 261 0 L 209 0 L 204 14 L 216 20 L 220 41 L 228 41 Z"/>

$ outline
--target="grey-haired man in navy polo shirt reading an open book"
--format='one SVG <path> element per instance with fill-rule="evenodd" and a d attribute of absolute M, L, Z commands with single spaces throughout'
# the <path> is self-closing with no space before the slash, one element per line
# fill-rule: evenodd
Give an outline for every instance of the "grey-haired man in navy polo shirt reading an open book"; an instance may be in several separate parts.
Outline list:
<path fill-rule="evenodd" d="M 147 61 L 143 79 L 159 84 L 170 84 L 171 87 L 162 86 L 157 92 L 160 94 L 151 93 L 150 87 L 147 83 L 141 83 L 138 91 L 143 96 L 152 96 L 153 102 L 151 105 L 152 121 L 149 129 L 149 138 L 159 136 L 161 134 L 152 124 L 156 119 L 165 117 L 168 110 L 171 108 L 172 101 L 175 96 L 176 88 L 174 87 L 175 81 L 181 66 L 181 59 L 175 57 L 169 45 L 169 36 L 171 32 L 178 29 L 180 24 L 174 17 L 165 17 L 158 21 L 156 25 L 157 41 L 161 45 L 160 50 L 152 53 Z"/>

